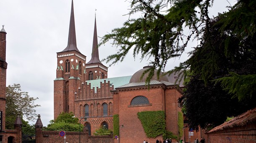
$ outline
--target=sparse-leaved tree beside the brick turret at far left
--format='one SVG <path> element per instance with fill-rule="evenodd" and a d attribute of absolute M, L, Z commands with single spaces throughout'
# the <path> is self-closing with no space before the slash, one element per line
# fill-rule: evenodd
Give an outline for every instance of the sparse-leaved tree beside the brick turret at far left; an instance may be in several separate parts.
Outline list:
<path fill-rule="evenodd" d="M 36 119 L 36 110 L 34 108 L 40 105 L 34 104 L 38 98 L 33 98 L 28 95 L 28 92 L 21 91 L 20 84 L 8 85 L 6 87 L 6 128 L 13 129 L 13 124 L 17 115 L 21 115 L 22 120 Z"/>

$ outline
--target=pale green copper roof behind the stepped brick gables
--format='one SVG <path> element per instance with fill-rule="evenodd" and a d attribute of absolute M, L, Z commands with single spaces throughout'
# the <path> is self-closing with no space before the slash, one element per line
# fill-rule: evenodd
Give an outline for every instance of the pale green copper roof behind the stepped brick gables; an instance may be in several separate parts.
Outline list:
<path fill-rule="evenodd" d="M 98 80 L 86 80 L 87 85 L 91 83 L 91 88 L 93 87 L 99 87 L 100 88 L 100 82 L 104 83 L 104 80 L 106 80 L 106 83 L 110 81 L 111 85 L 114 85 L 114 88 L 117 88 L 119 86 L 128 84 L 130 82 L 131 75 L 130 76 L 122 76 L 122 77 L 115 77 L 115 78 L 104 78 L 104 79 L 98 79 Z"/>

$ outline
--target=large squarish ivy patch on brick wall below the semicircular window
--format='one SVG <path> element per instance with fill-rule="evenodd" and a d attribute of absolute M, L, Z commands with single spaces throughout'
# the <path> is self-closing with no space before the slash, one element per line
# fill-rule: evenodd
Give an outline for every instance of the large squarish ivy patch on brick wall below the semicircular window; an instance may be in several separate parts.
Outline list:
<path fill-rule="evenodd" d="M 137 115 L 147 137 L 156 138 L 158 135 L 166 135 L 164 111 L 138 112 Z"/>

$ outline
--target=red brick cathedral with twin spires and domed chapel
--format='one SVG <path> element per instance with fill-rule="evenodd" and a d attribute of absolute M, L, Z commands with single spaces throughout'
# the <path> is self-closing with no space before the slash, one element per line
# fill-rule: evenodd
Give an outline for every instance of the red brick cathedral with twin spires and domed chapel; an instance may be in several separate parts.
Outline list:
<path fill-rule="evenodd" d="M 113 130 L 113 116 L 118 115 L 118 141 L 133 143 L 134 140 L 153 142 L 144 132 L 137 113 L 143 111 L 164 111 L 166 130 L 178 135 L 178 98 L 182 94 L 176 85 L 175 74 L 169 76 L 157 75 L 150 85 L 145 84 L 146 76 L 142 73 L 151 66 L 138 69 L 133 75 L 123 77 L 108 77 L 108 67 L 99 60 L 96 17 L 92 53 L 89 62 L 76 45 L 76 30 L 71 4 L 71 17 L 68 34 L 68 45 L 57 52 L 57 69 L 54 80 L 54 118 L 62 112 L 73 112 L 84 121 L 89 135 L 93 135 L 100 127 Z M 156 73 L 156 71 L 155 71 Z M 159 136 L 162 138 L 162 136 Z"/>

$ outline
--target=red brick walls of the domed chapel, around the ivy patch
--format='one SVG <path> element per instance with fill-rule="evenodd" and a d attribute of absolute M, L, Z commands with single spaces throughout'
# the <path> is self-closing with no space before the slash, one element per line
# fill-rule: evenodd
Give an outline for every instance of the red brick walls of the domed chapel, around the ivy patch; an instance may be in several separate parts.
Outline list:
<path fill-rule="evenodd" d="M 156 141 L 155 138 L 147 138 L 141 121 L 137 117 L 138 112 L 163 110 L 166 113 L 166 129 L 174 134 L 178 134 L 178 107 L 177 100 L 181 93 L 175 85 L 152 86 L 148 90 L 147 86 L 133 88 L 117 88 L 114 93 L 114 114 L 119 115 L 120 143 L 143 142 L 150 143 Z M 149 100 L 148 105 L 131 105 L 131 100 L 136 96 L 144 96 Z M 161 138 L 162 135 L 157 137 Z M 173 140 L 174 142 L 174 140 Z"/>

